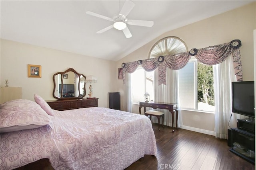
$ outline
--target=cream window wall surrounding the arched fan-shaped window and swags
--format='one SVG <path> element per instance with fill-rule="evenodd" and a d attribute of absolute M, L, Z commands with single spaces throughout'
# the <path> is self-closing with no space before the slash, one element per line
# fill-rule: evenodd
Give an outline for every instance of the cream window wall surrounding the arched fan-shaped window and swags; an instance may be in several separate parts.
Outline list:
<path fill-rule="evenodd" d="M 256 2 L 249 5 L 201 20 L 178 29 L 163 33 L 153 41 L 137 49 L 130 55 L 119 60 L 116 68 L 122 63 L 147 59 L 151 47 L 159 39 L 168 36 L 177 36 L 184 40 L 188 49 L 204 48 L 211 45 L 218 45 L 240 39 L 242 41 L 241 57 L 244 81 L 254 80 L 253 63 L 253 30 L 256 28 Z M 117 69 L 116 69 L 117 74 Z M 124 85 L 118 81 L 118 91 L 124 94 Z M 121 95 L 122 106 L 124 108 L 125 96 Z M 138 113 L 138 105 L 133 106 L 134 113 Z M 181 111 L 183 125 L 198 129 L 214 131 L 214 114 Z"/>

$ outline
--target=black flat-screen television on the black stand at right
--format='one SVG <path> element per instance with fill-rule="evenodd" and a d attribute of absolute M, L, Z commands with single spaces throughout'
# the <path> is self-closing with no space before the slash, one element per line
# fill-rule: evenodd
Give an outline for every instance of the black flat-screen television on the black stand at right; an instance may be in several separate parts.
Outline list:
<path fill-rule="evenodd" d="M 232 82 L 232 112 L 255 117 L 254 81 Z"/>

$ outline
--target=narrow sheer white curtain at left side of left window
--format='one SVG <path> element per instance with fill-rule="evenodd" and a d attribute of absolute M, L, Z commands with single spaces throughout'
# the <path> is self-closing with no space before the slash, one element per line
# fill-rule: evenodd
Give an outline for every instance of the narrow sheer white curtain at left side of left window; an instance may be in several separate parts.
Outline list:
<path fill-rule="evenodd" d="M 132 79 L 131 74 L 125 72 L 125 83 L 124 83 L 124 110 L 132 112 Z"/>

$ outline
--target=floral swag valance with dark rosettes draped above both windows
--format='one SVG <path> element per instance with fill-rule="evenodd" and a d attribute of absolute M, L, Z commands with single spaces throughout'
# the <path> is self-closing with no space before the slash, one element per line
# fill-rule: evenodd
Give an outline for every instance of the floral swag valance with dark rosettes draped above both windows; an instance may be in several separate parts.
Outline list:
<path fill-rule="evenodd" d="M 199 62 L 207 65 L 219 64 L 225 61 L 230 55 L 233 57 L 236 79 L 243 81 L 242 63 L 240 56 L 240 47 L 242 43 L 239 39 L 234 39 L 229 43 L 210 46 L 202 49 L 191 49 L 188 52 L 174 55 L 159 56 L 158 58 L 138 60 L 130 63 L 122 63 L 123 79 L 125 82 L 125 72 L 133 73 L 139 65 L 147 72 L 153 71 L 158 67 L 158 85 L 166 85 L 166 69 L 179 70 L 183 68 L 194 56 Z"/>

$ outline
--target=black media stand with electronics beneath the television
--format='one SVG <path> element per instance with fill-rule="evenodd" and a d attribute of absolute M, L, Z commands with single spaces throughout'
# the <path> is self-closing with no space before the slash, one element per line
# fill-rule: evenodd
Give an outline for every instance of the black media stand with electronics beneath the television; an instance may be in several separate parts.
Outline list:
<path fill-rule="evenodd" d="M 254 123 L 246 123 L 246 121 L 240 119 L 237 128 L 228 129 L 228 146 L 231 147 L 230 151 L 232 153 L 255 164 L 255 133 L 244 129 L 244 127 L 252 129 L 252 124 Z M 241 125 L 243 126 L 240 127 Z"/>

